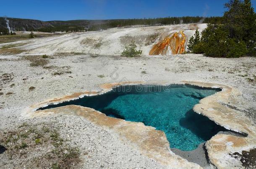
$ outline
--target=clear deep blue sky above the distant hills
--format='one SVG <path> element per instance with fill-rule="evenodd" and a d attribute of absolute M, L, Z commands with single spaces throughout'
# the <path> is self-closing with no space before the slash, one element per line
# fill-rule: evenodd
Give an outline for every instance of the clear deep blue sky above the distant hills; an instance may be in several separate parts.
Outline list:
<path fill-rule="evenodd" d="M 228 0 L 12 0 L 0 16 L 38 20 L 222 16 Z M 7 1 L 6 1 L 7 2 Z M 256 8 L 256 0 L 251 0 Z M 3 3 L 2 3 L 3 5 Z"/>

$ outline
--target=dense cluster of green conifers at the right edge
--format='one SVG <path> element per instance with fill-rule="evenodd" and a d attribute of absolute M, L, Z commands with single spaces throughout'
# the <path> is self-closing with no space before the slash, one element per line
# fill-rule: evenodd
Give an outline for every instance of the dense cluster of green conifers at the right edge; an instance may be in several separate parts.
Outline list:
<path fill-rule="evenodd" d="M 192 53 L 211 57 L 240 57 L 256 54 L 256 14 L 251 0 L 230 0 L 221 24 L 208 24 L 188 42 Z"/>

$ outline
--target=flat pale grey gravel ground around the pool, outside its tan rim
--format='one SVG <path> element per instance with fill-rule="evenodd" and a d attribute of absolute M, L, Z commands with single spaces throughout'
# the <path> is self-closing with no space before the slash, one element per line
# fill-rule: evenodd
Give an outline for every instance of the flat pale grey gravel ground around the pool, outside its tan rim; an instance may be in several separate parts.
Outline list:
<path fill-rule="evenodd" d="M 15 129 L 24 121 L 51 122 L 60 134 L 81 148 L 81 168 L 164 168 L 142 156 L 119 136 L 73 116 L 26 119 L 21 111 L 53 97 L 78 91 L 100 90 L 99 84 L 120 81 L 201 81 L 238 88 L 243 96 L 233 108 L 256 122 L 256 58 L 208 58 L 186 54 L 173 56 L 53 55 L 46 65 L 30 66 L 22 55 L 0 56 L 0 130 Z M 146 74 L 143 72 L 146 71 Z M 7 74 L 6 74 L 7 73 Z M 14 85 L 13 85 L 14 84 Z M 29 90 L 30 87 L 31 88 Z M 13 168 L 0 154 L 0 164 Z M 18 164 L 16 164 L 17 167 Z M 21 167 L 21 166 L 20 166 Z M 20 168 L 18 167 L 18 168 Z"/>

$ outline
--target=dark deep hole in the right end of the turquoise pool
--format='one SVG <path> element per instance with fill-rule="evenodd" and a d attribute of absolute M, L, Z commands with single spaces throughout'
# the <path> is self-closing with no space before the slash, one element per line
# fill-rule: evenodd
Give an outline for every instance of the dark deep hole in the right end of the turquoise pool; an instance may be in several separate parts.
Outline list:
<path fill-rule="evenodd" d="M 185 114 L 185 118 L 180 119 L 180 126 L 189 129 L 204 141 L 211 139 L 219 131 L 227 131 L 227 129 L 215 124 L 214 121 L 211 121 L 206 116 L 197 114 L 193 109 Z"/>

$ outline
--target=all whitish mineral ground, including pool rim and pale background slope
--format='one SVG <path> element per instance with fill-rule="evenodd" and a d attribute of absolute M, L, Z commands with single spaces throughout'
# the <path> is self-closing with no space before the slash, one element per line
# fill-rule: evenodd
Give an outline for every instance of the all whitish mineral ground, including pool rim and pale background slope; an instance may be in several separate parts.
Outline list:
<path fill-rule="evenodd" d="M 200 30 L 206 27 L 204 24 L 197 26 Z M 0 75 L 13 73 L 12 81 L 0 81 L 0 92 L 4 93 L 0 96 L 0 130 L 15 129 L 24 121 L 31 124 L 52 122 L 60 127 L 61 136 L 79 146 L 82 152 L 89 152 L 81 154 L 81 168 L 200 168 L 198 164 L 173 154 L 165 135 L 142 123 L 113 119 L 81 106 L 37 113 L 32 111 L 40 106 L 39 103 L 42 106 L 63 99 L 70 100 L 86 94 L 84 91 L 107 91 L 112 87 L 109 83 L 145 83 L 145 79 L 146 83 L 161 84 L 187 81 L 197 86 L 224 88 L 222 92 L 201 100 L 194 110 L 228 129 L 248 134 L 247 137 L 217 134 L 206 143 L 209 160 L 214 166 L 243 168 L 239 159 L 229 154 L 256 148 L 256 86 L 255 80 L 248 81 L 248 78 L 256 77 L 256 58 L 147 55 L 158 40 L 145 45 L 147 35 L 160 32 L 160 39 L 183 29 L 189 38 L 197 26 L 110 29 L 13 42 L 24 44 L 18 47 L 26 50 L 24 55 L 47 53 L 52 56 L 47 58 L 48 68 L 43 68 L 29 66 L 30 61 L 24 55 L 0 55 Z M 129 40 L 135 40 L 138 48 L 143 50 L 142 57 L 118 56 Z M 96 45 L 99 42 L 102 44 Z M 7 44 L 0 44 L 3 45 Z M 54 76 L 55 72 L 63 74 Z M 104 76 L 100 78 L 99 75 Z M 10 87 L 13 83 L 15 86 Z M 103 83 L 108 85 L 101 86 Z M 31 86 L 35 87 L 33 91 L 29 91 Z M 8 92 L 14 94 L 5 95 Z M 12 168 L 18 162 L 0 154 L 0 164 L 4 164 L 4 168 Z"/>

